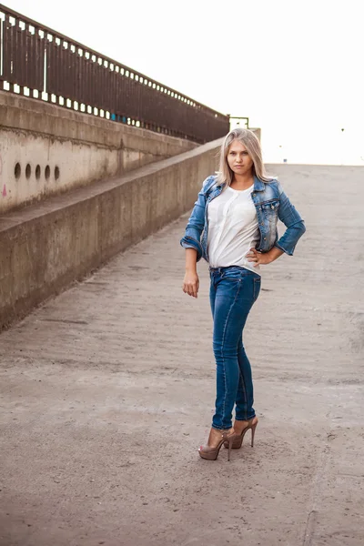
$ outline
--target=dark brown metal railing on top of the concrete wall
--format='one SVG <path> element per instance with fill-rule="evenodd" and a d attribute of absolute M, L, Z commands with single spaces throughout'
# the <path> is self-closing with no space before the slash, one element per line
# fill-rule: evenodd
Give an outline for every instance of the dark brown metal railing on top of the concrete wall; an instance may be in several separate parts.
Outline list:
<path fill-rule="evenodd" d="M 0 4 L 0 89 L 198 143 L 229 118 Z"/>

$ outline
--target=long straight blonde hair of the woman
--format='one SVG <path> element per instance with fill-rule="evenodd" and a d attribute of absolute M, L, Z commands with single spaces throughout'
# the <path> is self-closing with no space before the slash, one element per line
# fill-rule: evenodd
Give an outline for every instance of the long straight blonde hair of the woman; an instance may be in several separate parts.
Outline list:
<path fill-rule="evenodd" d="M 237 128 L 227 134 L 221 145 L 220 165 L 216 181 L 217 185 L 226 184 L 227 186 L 230 186 L 233 180 L 234 173 L 231 168 L 228 167 L 227 163 L 228 148 L 233 140 L 238 140 L 238 142 L 241 142 L 241 144 L 247 148 L 248 155 L 253 160 L 253 175 L 258 177 L 259 180 L 262 180 L 262 182 L 271 182 L 275 179 L 274 177 L 269 177 L 266 173 L 258 137 L 249 129 Z"/>

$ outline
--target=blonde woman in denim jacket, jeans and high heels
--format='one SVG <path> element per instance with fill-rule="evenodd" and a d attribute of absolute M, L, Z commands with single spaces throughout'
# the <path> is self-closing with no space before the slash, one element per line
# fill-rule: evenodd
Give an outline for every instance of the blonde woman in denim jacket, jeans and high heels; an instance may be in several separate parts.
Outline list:
<path fill-rule="evenodd" d="M 287 229 L 278 238 L 278 218 Z M 248 313 L 260 291 L 260 266 L 292 255 L 305 226 L 277 179 L 265 174 L 257 136 L 234 129 L 220 151 L 217 176 L 207 177 L 188 219 L 183 291 L 197 298 L 197 261 L 209 264 L 210 303 L 214 320 L 217 398 L 203 459 L 216 460 L 223 444 L 240 448 L 258 418 L 253 409 L 253 382 L 242 335 Z M 202 238 L 201 238 L 201 234 Z M 236 416 L 232 426 L 232 410 Z"/>

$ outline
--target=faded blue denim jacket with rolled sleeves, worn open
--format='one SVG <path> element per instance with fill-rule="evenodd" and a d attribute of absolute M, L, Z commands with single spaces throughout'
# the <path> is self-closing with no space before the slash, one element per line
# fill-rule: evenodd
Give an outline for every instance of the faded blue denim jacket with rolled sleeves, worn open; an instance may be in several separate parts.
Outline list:
<path fill-rule="evenodd" d="M 207 207 L 212 199 L 220 195 L 224 186 L 217 186 L 216 179 L 216 176 L 207 177 L 203 183 L 195 207 L 188 219 L 185 236 L 180 241 L 183 248 L 195 248 L 197 250 L 197 261 L 205 258 L 208 262 Z M 254 190 L 251 198 L 257 210 L 260 231 L 257 250 L 259 252 L 268 252 L 271 248 L 277 247 L 292 256 L 298 239 L 305 233 L 306 227 L 278 180 L 262 182 L 258 177 L 254 177 Z M 278 218 L 287 227 L 279 239 Z"/>

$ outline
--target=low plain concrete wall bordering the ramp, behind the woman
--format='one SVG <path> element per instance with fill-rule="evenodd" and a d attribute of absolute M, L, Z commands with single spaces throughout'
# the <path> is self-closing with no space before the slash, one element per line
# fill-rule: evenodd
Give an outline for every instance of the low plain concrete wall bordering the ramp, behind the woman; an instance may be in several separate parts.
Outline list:
<path fill-rule="evenodd" d="M 0 217 L 0 329 L 191 208 L 220 143 Z"/>

